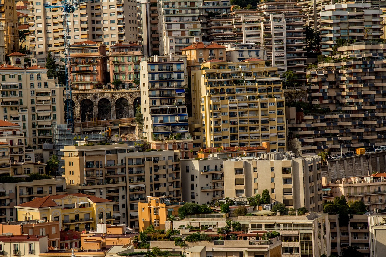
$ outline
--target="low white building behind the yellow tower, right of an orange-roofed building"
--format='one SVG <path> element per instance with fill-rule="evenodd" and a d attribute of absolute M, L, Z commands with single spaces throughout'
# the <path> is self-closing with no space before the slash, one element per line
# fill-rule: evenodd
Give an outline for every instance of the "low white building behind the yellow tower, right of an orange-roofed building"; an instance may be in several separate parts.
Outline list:
<path fill-rule="evenodd" d="M 245 43 L 245 44 L 229 44 L 225 45 L 225 59 L 228 62 L 241 62 L 245 58 L 257 58 L 266 60 L 267 51 L 264 46 L 256 43 Z"/>

